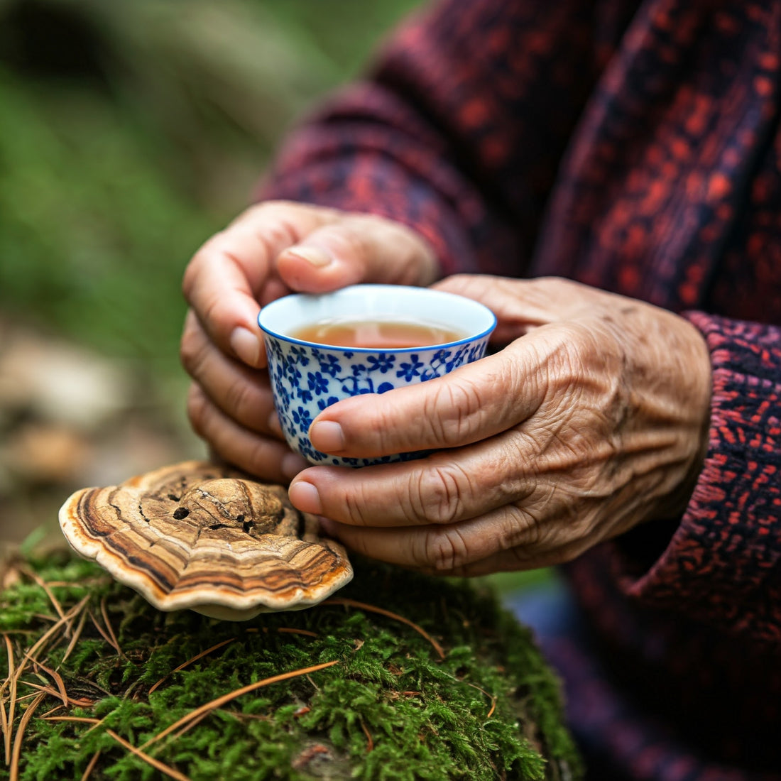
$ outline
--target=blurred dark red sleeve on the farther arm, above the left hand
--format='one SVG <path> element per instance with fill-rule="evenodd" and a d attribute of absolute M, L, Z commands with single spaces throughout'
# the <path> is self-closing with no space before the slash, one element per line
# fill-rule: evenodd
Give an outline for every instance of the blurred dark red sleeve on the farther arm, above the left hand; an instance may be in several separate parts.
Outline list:
<path fill-rule="evenodd" d="M 443 0 L 288 139 L 261 198 L 418 230 L 444 274 L 522 273 L 632 0 Z"/>

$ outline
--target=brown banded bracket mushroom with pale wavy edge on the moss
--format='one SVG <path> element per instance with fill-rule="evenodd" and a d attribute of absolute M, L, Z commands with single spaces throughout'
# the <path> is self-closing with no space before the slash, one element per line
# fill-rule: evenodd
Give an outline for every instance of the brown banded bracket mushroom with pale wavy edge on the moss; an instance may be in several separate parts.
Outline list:
<path fill-rule="evenodd" d="M 241 621 L 317 604 L 352 578 L 344 547 L 284 487 L 204 461 L 77 490 L 59 523 L 77 553 L 159 610 Z"/>

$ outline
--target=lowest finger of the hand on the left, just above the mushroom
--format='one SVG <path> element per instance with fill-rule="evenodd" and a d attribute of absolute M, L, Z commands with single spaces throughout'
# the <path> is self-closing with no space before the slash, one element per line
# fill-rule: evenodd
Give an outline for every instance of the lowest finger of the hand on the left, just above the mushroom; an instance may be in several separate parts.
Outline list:
<path fill-rule="evenodd" d="M 219 410 L 193 383 L 187 396 L 187 415 L 199 437 L 226 462 L 274 483 L 287 483 L 308 463 L 287 445 L 253 433 Z"/>

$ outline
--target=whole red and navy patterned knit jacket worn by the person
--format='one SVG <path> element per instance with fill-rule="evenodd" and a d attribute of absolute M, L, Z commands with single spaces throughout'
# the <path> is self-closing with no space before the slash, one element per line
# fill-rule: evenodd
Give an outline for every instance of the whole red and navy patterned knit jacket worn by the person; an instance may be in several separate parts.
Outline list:
<path fill-rule="evenodd" d="M 779 113 L 781 0 L 450 0 L 262 191 L 406 223 L 444 275 L 567 276 L 704 335 L 686 512 L 567 568 L 603 660 L 560 654 L 569 715 L 617 778 L 781 779 Z"/>

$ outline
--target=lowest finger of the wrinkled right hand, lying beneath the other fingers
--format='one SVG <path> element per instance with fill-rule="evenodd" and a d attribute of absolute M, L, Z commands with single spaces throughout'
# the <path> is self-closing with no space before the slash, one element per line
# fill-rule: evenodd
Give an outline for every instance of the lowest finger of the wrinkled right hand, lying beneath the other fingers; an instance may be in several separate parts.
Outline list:
<path fill-rule="evenodd" d="M 535 557 L 558 547 L 555 540 L 541 538 L 536 519 L 511 506 L 446 526 L 358 529 L 330 519 L 324 526 L 361 555 L 437 574 L 461 571 L 515 547 L 529 549 L 530 555 L 533 549 Z"/>

